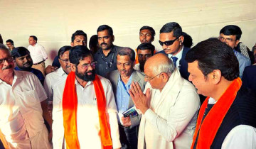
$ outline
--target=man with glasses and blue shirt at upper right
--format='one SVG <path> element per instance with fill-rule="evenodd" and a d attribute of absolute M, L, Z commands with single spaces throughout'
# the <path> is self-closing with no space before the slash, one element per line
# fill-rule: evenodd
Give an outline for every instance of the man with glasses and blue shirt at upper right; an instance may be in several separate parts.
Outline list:
<path fill-rule="evenodd" d="M 235 56 L 238 58 L 240 78 L 242 78 L 242 73 L 245 70 L 245 67 L 251 65 L 250 59 L 235 50 L 235 47 L 238 45 L 241 35 L 242 31 L 238 26 L 229 25 L 225 26 L 220 30 L 220 36 L 218 37 L 221 42 L 229 45 L 230 48 L 232 48 Z"/>

